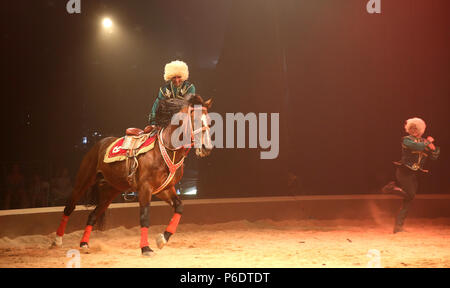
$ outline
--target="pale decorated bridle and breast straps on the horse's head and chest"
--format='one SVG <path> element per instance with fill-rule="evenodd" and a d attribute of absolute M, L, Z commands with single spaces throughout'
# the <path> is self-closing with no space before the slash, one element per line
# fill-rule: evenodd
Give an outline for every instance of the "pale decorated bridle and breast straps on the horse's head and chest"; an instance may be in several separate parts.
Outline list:
<path fill-rule="evenodd" d="M 180 168 L 183 165 L 184 158 L 186 158 L 187 154 L 189 153 L 191 148 L 194 146 L 194 144 L 195 144 L 195 135 L 197 135 L 199 133 L 202 133 L 205 130 L 209 133 L 209 126 L 208 126 L 206 117 L 203 117 L 205 114 L 202 114 L 202 119 L 201 119 L 202 120 L 202 127 L 194 130 L 194 126 L 192 124 L 191 116 L 192 116 L 192 113 L 196 111 L 196 109 L 199 109 L 199 108 L 189 106 L 188 113 L 187 113 L 188 114 L 188 119 L 189 119 L 188 120 L 189 124 L 187 124 L 186 126 L 189 126 L 189 127 L 186 127 L 185 131 L 187 131 L 187 129 L 190 129 L 190 132 L 191 132 L 190 133 L 191 134 L 191 142 L 190 142 L 190 144 L 183 145 L 181 147 L 176 147 L 176 148 L 169 148 L 169 147 L 167 147 L 164 144 L 164 140 L 163 140 L 164 128 L 161 129 L 161 131 L 159 132 L 159 134 L 158 134 L 159 151 L 161 152 L 161 156 L 163 157 L 164 162 L 166 163 L 167 167 L 169 168 L 169 175 L 167 176 L 166 181 L 164 181 L 164 183 L 162 183 L 158 187 L 158 189 L 156 189 L 155 191 L 152 192 L 152 195 L 157 194 L 157 193 L 161 192 L 162 190 L 164 190 L 166 188 L 166 186 L 170 183 L 170 181 L 172 181 L 172 179 L 175 176 L 178 168 Z M 206 107 L 203 107 L 203 106 L 201 107 L 201 109 L 202 109 L 202 111 L 207 110 Z M 185 124 L 183 124 L 183 125 L 185 125 Z M 203 145 L 203 137 L 201 137 L 201 140 L 202 140 L 201 144 Z M 183 155 L 183 157 L 181 157 L 181 160 L 178 161 L 178 163 L 175 163 L 176 152 L 178 150 L 182 149 L 182 148 L 187 148 L 187 152 Z M 169 153 L 167 153 L 167 150 L 173 151 L 173 160 L 170 159 L 170 156 L 169 156 Z"/>

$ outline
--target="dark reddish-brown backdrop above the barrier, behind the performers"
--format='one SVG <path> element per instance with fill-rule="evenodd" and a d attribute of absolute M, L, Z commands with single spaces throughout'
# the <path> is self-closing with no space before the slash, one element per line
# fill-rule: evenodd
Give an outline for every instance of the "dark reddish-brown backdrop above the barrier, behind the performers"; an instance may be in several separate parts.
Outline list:
<path fill-rule="evenodd" d="M 95 132 L 147 124 L 180 59 L 214 112 L 280 113 L 275 160 L 190 155 L 200 197 L 378 193 L 416 116 L 442 149 L 420 193 L 449 193 L 450 2 L 381 0 L 381 14 L 367 2 L 81 0 L 69 15 L 65 0 L 2 1 L 2 175 L 13 163 L 75 175 Z"/>

